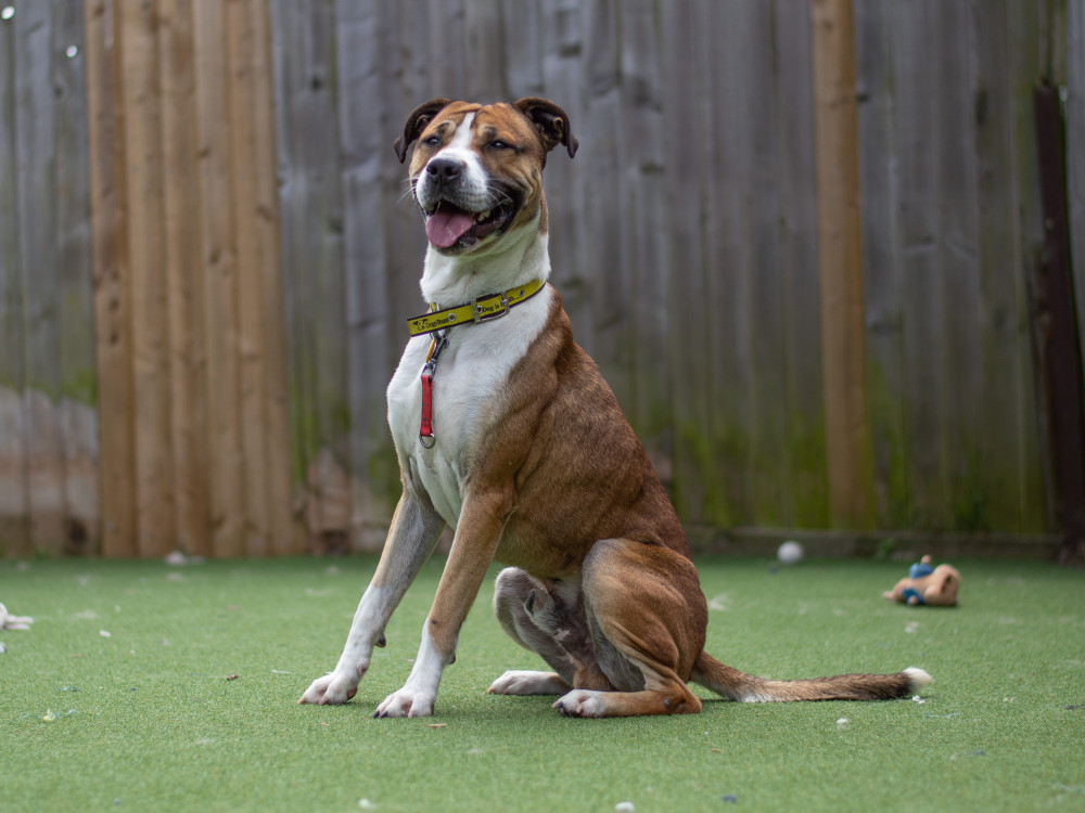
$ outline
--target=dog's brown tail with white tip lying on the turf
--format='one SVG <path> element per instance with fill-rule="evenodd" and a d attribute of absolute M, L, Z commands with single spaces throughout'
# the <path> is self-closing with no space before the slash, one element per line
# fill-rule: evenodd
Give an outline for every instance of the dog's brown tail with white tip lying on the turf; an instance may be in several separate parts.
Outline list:
<path fill-rule="evenodd" d="M 931 676 L 916 667 L 897 674 L 841 674 L 805 681 L 769 681 L 725 666 L 707 653 L 698 656 L 690 680 L 739 702 L 890 700 L 914 695 L 931 683 Z"/>

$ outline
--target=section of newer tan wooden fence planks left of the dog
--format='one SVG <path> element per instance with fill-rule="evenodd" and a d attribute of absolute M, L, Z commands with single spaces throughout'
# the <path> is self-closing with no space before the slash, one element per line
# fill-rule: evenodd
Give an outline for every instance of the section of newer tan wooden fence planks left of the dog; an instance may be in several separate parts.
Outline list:
<path fill-rule="evenodd" d="M 87 30 L 101 403 L 118 416 L 104 552 L 296 552 L 267 7 L 92 3 Z"/>

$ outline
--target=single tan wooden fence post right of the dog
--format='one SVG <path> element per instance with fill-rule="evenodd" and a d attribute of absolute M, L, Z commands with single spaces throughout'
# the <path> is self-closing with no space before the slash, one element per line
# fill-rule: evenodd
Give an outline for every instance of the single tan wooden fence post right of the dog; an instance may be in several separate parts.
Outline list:
<path fill-rule="evenodd" d="M 829 505 L 834 526 L 866 528 L 872 448 L 851 0 L 812 0 L 810 23 Z"/>

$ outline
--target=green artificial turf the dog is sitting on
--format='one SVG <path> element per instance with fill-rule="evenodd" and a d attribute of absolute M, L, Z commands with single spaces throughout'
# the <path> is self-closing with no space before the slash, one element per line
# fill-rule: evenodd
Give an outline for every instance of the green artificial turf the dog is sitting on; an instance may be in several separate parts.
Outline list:
<path fill-rule="evenodd" d="M 296 700 L 334 666 L 373 558 L 0 562 L 0 602 L 35 618 L 0 632 L 0 810 L 1085 809 L 1085 573 L 955 564 L 961 605 L 935 609 L 881 598 L 906 563 L 699 560 L 713 655 L 771 678 L 918 666 L 921 704 L 565 719 L 485 694 L 541 668 L 498 628 L 490 579 L 436 715 L 373 720 L 443 559 L 342 707 Z"/>

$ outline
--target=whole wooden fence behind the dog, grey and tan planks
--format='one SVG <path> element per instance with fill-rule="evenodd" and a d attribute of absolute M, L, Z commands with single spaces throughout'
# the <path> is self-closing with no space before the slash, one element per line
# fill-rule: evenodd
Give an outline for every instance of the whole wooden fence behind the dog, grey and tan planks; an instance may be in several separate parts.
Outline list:
<path fill-rule="evenodd" d="M 1081 3 L 852 5 L 0 0 L 0 551 L 380 544 L 436 95 L 570 113 L 552 281 L 698 540 L 1048 542 L 1033 90 L 1083 234 Z"/>

